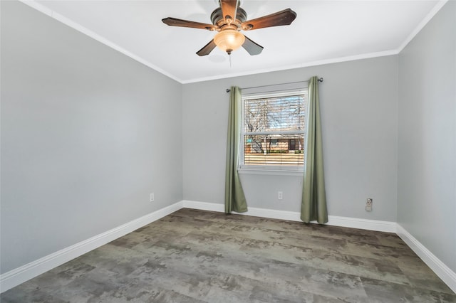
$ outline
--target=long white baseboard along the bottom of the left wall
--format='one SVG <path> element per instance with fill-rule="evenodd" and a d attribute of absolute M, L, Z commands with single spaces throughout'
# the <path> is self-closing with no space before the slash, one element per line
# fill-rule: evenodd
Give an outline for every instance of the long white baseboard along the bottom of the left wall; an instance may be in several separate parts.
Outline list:
<path fill-rule="evenodd" d="M 128 223 L 120 225 L 116 228 L 106 231 L 105 233 L 100 233 L 95 235 L 92 238 L 84 240 L 75 245 L 71 245 L 68 248 L 63 248 L 63 250 L 58 250 L 57 252 L 51 253 L 51 255 L 46 255 L 41 257 L 38 260 L 30 262 L 26 265 L 18 267 L 9 272 L 5 272 L 3 275 L 0 275 L 0 291 L 6 292 L 6 290 L 16 287 L 21 283 L 26 282 L 27 280 L 32 279 L 38 275 L 41 275 L 48 270 L 53 269 L 59 265 L 62 265 L 65 262 L 73 260 L 80 255 L 90 252 L 95 248 L 99 248 L 101 245 L 110 243 L 111 241 L 131 233 L 133 230 L 137 230 L 144 225 L 152 223 L 155 220 L 163 218 L 170 213 L 180 210 L 182 208 L 182 201 L 174 203 L 165 208 L 149 213 L 148 215 L 142 216 L 138 219 L 132 220 Z"/>

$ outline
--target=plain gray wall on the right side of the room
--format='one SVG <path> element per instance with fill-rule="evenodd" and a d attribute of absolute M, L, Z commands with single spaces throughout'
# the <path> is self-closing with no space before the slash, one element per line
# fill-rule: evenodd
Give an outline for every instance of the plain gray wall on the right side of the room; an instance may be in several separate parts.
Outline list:
<path fill-rule="evenodd" d="M 456 2 L 399 56 L 398 223 L 456 272 Z"/>

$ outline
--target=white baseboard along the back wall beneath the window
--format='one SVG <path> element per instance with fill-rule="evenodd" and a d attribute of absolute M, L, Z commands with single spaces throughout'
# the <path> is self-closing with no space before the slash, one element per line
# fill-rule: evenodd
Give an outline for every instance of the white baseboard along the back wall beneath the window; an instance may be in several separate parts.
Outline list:
<path fill-rule="evenodd" d="M 216 203 L 207 203 L 199 201 L 183 201 L 184 207 L 186 208 L 195 208 L 204 211 L 219 211 L 224 212 L 223 204 Z M 271 219 L 280 219 L 280 220 L 290 220 L 296 222 L 301 221 L 301 214 L 295 211 L 277 211 L 273 209 L 266 208 L 254 208 L 249 207 L 249 211 L 246 213 L 239 213 L 240 215 L 254 216 L 254 217 L 264 217 Z M 316 223 L 316 221 L 311 222 Z M 366 220 L 358 218 L 348 218 L 348 217 L 338 217 L 338 216 L 328 216 L 327 225 L 342 226 L 348 228 L 361 228 L 366 230 L 376 230 L 384 231 L 387 233 L 396 232 L 396 223 L 389 221 L 380 221 L 380 220 Z"/>

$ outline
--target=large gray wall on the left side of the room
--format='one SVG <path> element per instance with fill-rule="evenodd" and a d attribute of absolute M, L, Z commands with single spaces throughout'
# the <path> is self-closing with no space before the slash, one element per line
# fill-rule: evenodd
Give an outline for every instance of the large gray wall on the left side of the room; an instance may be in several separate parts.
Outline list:
<path fill-rule="evenodd" d="M 177 201 L 182 85 L 1 1 L 1 272 Z"/>

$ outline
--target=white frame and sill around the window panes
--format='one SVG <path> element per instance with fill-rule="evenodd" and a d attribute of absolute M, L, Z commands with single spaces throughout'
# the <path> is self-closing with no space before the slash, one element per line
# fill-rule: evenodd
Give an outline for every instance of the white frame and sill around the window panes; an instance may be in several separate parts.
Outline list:
<path fill-rule="evenodd" d="M 261 98 L 273 98 L 273 97 L 286 97 L 286 96 L 294 96 L 294 95 L 306 95 L 308 98 L 309 96 L 307 93 L 309 92 L 308 87 L 299 87 L 294 89 L 284 89 L 284 90 L 272 90 L 272 91 L 264 91 L 264 92 L 242 92 L 242 119 L 241 119 L 241 134 L 240 134 L 240 141 L 239 142 L 239 166 L 238 172 L 239 174 L 272 174 L 272 175 L 299 175 L 301 176 L 304 173 L 304 163 L 303 166 L 289 166 L 289 165 L 254 165 L 254 164 L 244 164 L 244 156 L 245 156 L 245 149 L 244 149 L 244 136 L 246 135 L 245 131 L 245 100 L 252 100 L 252 99 L 261 99 Z M 305 100 L 308 102 L 308 100 Z M 307 103 L 306 108 L 307 112 Z M 271 133 L 271 132 L 266 132 Z M 306 125 L 304 125 L 303 131 L 283 131 L 279 132 L 281 134 L 304 134 L 304 145 L 305 142 L 305 134 L 306 134 Z M 304 156 L 304 154 L 303 154 Z"/>

